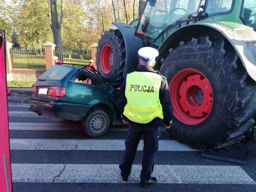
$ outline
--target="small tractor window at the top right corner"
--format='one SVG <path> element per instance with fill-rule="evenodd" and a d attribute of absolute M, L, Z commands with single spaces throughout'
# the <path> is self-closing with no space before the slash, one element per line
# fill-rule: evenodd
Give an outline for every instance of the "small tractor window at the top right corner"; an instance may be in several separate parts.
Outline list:
<path fill-rule="evenodd" d="M 253 27 L 256 31 L 256 1 L 255 0 L 244 0 L 241 19 L 245 25 Z"/>

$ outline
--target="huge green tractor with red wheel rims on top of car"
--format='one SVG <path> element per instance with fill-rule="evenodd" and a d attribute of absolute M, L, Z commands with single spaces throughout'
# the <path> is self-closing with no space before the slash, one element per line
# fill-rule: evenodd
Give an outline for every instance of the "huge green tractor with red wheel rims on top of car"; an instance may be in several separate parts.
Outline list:
<path fill-rule="evenodd" d="M 255 134 L 255 0 L 146 0 L 139 19 L 113 25 L 98 42 L 97 70 L 119 87 L 137 51 L 156 48 L 176 140 L 219 149 Z"/>

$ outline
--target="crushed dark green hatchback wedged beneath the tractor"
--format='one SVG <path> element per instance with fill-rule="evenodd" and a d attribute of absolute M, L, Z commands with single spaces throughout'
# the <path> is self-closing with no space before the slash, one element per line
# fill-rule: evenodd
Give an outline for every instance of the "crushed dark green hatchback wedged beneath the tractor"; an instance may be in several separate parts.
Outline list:
<path fill-rule="evenodd" d="M 99 137 L 110 124 L 121 122 L 118 95 L 119 91 L 105 83 L 101 75 L 86 67 L 55 65 L 34 84 L 29 110 L 38 115 L 82 121 L 86 134 Z"/>

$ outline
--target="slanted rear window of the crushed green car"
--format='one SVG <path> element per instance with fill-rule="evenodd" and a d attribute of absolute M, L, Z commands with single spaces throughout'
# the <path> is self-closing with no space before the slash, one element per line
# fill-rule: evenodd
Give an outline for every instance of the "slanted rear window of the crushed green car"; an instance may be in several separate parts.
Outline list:
<path fill-rule="evenodd" d="M 38 80 L 50 81 L 50 80 L 61 80 L 65 75 L 67 75 L 72 70 L 72 67 L 55 65 L 49 68 L 45 73 L 43 73 Z"/>

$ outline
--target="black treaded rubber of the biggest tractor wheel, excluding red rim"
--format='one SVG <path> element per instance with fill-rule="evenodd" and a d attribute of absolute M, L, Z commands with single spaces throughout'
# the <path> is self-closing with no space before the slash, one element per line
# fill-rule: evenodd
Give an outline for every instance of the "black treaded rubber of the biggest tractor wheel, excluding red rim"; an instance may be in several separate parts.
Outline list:
<path fill-rule="evenodd" d="M 255 125 L 256 82 L 247 74 L 235 50 L 222 38 L 206 36 L 180 42 L 161 62 L 160 72 L 168 83 L 183 67 L 197 67 L 208 73 L 204 75 L 215 87 L 213 108 L 204 122 L 191 126 L 174 117 L 170 134 L 177 140 L 196 148 L 223 148 L 243 139 Z"/>

